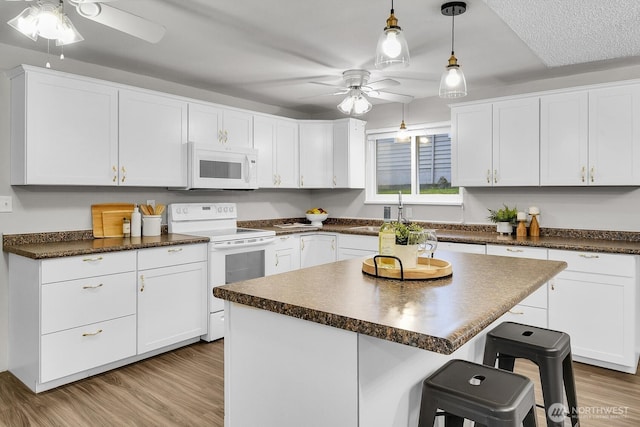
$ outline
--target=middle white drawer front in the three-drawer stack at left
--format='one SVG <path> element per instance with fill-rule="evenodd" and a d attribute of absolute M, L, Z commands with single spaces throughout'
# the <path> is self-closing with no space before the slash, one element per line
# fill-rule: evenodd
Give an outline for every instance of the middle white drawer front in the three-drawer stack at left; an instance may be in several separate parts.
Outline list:
<path fill-rule="evenodd" d="M 43 334 L 136 313 L 136 273 L 42 286 Z"/>

